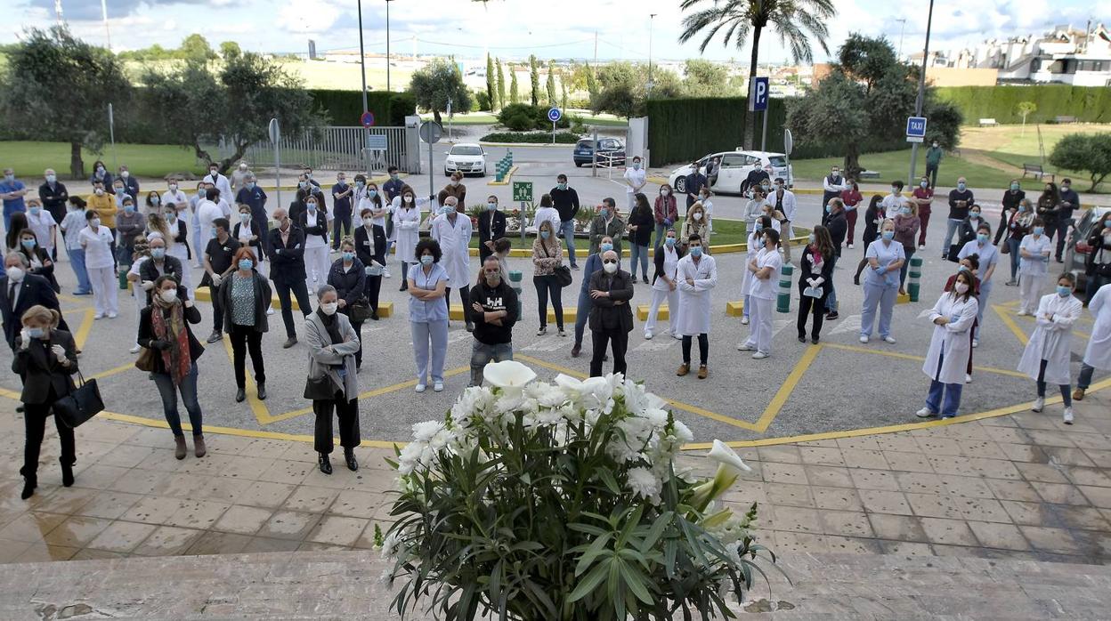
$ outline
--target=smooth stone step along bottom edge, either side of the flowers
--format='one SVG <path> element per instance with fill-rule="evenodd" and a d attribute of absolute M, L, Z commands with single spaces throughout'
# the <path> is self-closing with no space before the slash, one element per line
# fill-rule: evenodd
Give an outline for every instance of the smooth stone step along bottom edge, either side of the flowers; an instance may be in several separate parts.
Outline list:
<path fill-rule="evenodd" d="M 370 550 L 0 565 L 0 619 L 392 620 L 386 567 Z M 770 569 L 744 619 L 1099 619 L 1111 603 L 1104 565 L 801 553 L 780 568 L 792 584 Z"/>

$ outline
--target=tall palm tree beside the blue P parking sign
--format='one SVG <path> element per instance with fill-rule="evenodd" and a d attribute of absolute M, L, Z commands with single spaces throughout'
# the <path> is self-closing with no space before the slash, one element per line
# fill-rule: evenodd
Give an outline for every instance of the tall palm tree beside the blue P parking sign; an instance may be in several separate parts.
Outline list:
<path fill-rule="evenodd" d="M 708 8 L 700 8 L 703 3 Z M 832 0 L 682 0 L 683 11 L 694 10 L 683 18 L 683 31 L 679 41 L 685 43 L 709 29 L 699 51 L 704 52 L 710 41 L 724 31 L 723 47 L 733 42 L 737 49 L 744 47 L 752 37 L 752 60 L 749 63 L 749 83 L 757 76 L 757 59 L 760 54 L 760 37 L 765 28 L 779 34 L 779 41 L 791 52 L 794 62 L 812 62 L 814 59 L 810 36 L 818 40 L 822 51 L 829 53 L 825 38 L 829 36 L 827 21 L 837 13 Z M 742 114 L 748 114 L 743 111 Z M 757 133 L 757 116 L 752 116 L 752 137 Z M 748 134 L 748 119 L 741 124 L 741 143 L 751 147 Z"/>

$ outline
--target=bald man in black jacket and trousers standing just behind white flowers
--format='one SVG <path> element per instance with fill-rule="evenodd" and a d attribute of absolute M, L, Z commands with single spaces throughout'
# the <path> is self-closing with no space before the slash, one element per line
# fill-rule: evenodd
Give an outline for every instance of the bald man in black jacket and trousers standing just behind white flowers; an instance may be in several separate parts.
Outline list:
<path fill-rule="evenodd" d="M 590 375 L 602 374 L 602 358 L 607 341 L 613 343 L 613 372 L 624 373 L 625 350 L 632 331 L 632 277 L 620 269 L 618 253 L 602 253 L 602 269 L 590 277 L 590 333 L 594 353 L 590 359 Z"/>

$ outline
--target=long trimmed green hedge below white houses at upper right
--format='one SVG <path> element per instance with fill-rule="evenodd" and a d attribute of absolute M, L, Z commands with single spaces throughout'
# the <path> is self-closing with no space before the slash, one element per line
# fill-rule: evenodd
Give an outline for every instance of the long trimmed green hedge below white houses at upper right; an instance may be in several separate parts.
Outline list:
<path fill-rule="evenodd" d="M 935 90 L 938 98 L 960 108 L 967 123 L 977 119 L 1021 123 L 1019 103 L 1022 101 L 1038 106 L 1038 110 L 1027 117 L 1028 123 L 1052 122 L 1054 117 L 1075 117 L 1089 123 L 1111 122 L 1111 89 L 1107 87 L 1031 84 L 941 87 Z"/>

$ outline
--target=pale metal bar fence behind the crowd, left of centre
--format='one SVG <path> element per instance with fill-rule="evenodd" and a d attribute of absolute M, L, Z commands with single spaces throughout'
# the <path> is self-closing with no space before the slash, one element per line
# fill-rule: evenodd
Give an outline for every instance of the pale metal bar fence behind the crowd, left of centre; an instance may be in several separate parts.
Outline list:
<path fill-rule="evenodd" d="M 370 128 L 370 143 L 386 138 L 386 150 L 370 150 L 368 130 L 361 127 L 326 127 L 306 130 L 281 139 L 281 164 L 308 166 L 313 170 L 386 170 L 396 166 L 408 172 L 406 158 L 406 128 Z M 273 166 L 274 147 L 269 141 L 257 142 L 243 156 L 251 166 Z"/>

